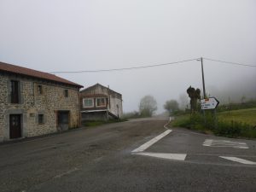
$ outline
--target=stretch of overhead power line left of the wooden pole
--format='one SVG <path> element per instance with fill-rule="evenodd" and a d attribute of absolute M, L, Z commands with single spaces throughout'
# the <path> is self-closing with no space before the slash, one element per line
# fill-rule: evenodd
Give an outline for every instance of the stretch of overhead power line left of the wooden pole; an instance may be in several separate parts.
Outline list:
<path fill-rule="evenodd" d="M 113 72 L 113 71 L 125 71 L 125 70 L 133 70 L 133 69 L 141 69 L 141 68 L 149 68 L 149 67 L 161 67 L 167 65 L 175 65 L 178 63 L 188 62 L 188 61 L 197 61 L 198 58 L 190 59 L 190 60 L 183 60 L 183 61 L 175 61 L 175 62 L 168 62 L 168 63 L 161 63 L 155 65 L 148 65 L 148 66 L 141 66 L 141 67 L 125 67 L 125 68 L 112 68 L 112 69 L 99 69 L 99 70 L 86 70 L 86 71 L 69 71 L 69 72 L 51 72 L 51 73 L 100 73 L 100 72 Z"/>

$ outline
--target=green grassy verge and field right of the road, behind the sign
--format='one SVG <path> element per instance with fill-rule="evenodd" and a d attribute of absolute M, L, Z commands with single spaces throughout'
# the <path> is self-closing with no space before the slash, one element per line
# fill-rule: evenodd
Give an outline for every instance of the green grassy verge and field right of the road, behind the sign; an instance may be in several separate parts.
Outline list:
<path fill-rule="evenodd" d="M 172 121 L 172 126 L 213 133 L 217 136 L 256 138 L 256 102 L 220 106 L 216 116 L 208 110 L 205 111 L 205 115 L 177 115 Z"/>

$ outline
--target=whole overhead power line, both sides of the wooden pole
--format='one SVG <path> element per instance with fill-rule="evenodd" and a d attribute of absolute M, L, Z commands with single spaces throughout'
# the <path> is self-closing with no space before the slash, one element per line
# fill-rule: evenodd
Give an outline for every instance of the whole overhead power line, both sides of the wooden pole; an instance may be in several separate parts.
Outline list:
<path fill-rule="evenodd" d="M 202 58 L 207 61 L 222 62 L 222 63 L 226 63 L 226 64 L 230 64 L 230 65 L 256 67 L 253 65 L 247 65 L 247 64 L 242 64 L 242 63 L 238 63 L 238 62 L 221 61 L 221 60 L 215 60 L 215 59 L 210 59 L 210 58 L 206 58 L 206 57 L 202 57 Z M 162 66 L 168 66 L 168 65 L 176 65 L 179 63 L 183 63 L 183 62 L 200 61 L 200 60 L 201 60 L 201 58 L 195 58 L 195 59 L 190 59 L 190 60 L 174 61 L 174 62 L 147 65 L 147 66 L 141 66 L 141 67 L 124 67 L 124 68 L 111 68 L 111 69 L 85 70 L 85 71 L 66 71 L 66 72 L 60 71 L 60 72 L 51 72 L 51 73 L 101 73 L 101 72 L 113 72 L 113 71 L 127 71 L 127 70 L 142 69 L 142 68 L 149 68 L 149 67 L 162 67 Z"/>

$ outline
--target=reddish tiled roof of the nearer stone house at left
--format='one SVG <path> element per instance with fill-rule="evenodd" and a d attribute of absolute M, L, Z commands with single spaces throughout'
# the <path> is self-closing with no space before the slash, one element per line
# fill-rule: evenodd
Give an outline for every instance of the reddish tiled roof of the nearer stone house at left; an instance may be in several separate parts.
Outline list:
<path fill-rule="evenodd" d="M 32 78 L 44 79 L 44 80 L 54 81 L 61 84 L 73 85 L 79 88 L 84 87 L 83 85 L 73 83 L 72 81 L 69 81 L 67 79 L 62 79 L 54 74 L 39 72 L 30 68 L 15 66 L 15 65 L 4 63 L 1 61 L 0 61 L 0 72 L 25 75 Z"/>

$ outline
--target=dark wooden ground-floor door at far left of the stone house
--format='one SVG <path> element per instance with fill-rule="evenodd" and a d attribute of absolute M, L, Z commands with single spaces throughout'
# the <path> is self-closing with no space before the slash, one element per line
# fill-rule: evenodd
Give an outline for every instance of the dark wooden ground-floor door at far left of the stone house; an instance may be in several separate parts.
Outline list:
<path fill-rule="evenodd" d="M 20 114 L 9 115 L 9 138 L 20 138 L 21 137 L 21 122 Z"/>

